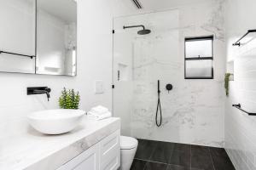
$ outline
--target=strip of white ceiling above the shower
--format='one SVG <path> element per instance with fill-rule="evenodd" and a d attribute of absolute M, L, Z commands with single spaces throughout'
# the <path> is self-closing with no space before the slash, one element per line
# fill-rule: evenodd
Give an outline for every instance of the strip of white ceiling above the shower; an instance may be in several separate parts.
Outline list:
<path fill-rule="evenodd" d="M 131 1 L 132 0 L 128 0 Z M 166 8 L 175 8 L 183 5 L 205 3 L 212 0 L 137 0 L 143 6 L 144 10 L 164 10 Z"/>

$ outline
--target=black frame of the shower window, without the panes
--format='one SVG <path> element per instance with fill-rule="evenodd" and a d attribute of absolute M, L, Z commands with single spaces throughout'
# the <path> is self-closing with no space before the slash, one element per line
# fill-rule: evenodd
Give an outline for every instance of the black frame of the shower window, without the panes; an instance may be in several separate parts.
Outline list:
<path fill-rule="evenodd" d="M 194 41 L 205 41 L 205 40 L 212 40 L 212 57 L 191 57 L 191 58 L 186 58 L 186 42 L 194 42 Z M 213 65 L 212 65 L 212 75 L 211 77 L 187 77 L 186 76 L 186 61 L 187 60 L 207 60 L 207 59 L 211 59 L 212 60 L 212 64 L 213 64 L 213 56 L 214 56 L 214 46 L 213 46 L 213 42 L 214 42 L 214 37 L 213 36 L 203 36 L 203 37 L 185 37 L 184 40 L 184 78 L 185 79 L 214 79 L 214 71 L 213 71 Z"/>

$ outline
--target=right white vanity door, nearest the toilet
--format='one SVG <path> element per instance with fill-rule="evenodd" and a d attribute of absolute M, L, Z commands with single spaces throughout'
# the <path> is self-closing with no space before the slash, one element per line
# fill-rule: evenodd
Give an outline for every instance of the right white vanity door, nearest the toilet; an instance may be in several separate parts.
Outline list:
<path fill-rule="evenodd" d="M 116 170 L 120 166 L 120 131 L 100 142 L 100 170 Z"/>

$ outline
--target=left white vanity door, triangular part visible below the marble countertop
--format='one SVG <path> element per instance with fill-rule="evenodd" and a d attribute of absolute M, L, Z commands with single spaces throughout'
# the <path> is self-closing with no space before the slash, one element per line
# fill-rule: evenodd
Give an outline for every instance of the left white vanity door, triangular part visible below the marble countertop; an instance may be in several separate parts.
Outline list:
<path fill-rule="evenodd" d="M 99 170 L 99 164 L 99 144 L 95 144 L 58 170 Z"/>

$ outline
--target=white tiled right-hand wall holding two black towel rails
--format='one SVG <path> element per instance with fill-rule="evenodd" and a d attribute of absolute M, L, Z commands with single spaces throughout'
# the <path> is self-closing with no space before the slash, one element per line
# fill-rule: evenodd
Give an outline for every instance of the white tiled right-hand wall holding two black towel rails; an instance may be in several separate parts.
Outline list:
<path fill-rule="evenodd" d="M 226 99 L 225 149 L 237 170 L 256 169 L 256 117 L 247 116 L 232 107 L 240 103 L 247 111 L 256 111 L 256 41 L 248 35 L 245 44 L 234 47 L 247 30 L 256 28 L 254 0 L 226 1 L 226 34 L 228 65 L 234 62 L 235 81 L 230 82 L 230 97 Z"/>

